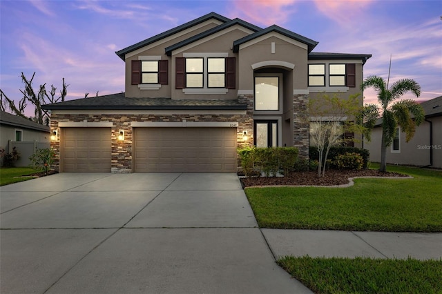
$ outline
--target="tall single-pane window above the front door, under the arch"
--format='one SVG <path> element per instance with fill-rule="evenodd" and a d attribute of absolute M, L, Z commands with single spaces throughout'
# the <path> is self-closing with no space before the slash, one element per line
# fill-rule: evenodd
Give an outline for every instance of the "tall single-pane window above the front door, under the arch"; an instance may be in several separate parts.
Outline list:
<path fill-rule="evenodd" d="M 279 77 L 255 77 L 255 110 L 279 110 Z"/>

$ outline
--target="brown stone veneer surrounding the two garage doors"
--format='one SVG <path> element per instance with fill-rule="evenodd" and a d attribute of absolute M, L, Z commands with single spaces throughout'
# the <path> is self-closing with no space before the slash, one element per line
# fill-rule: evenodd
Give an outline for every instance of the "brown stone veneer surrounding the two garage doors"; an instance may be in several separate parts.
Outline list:
<path fill-rule="evenodd" d="M 247 101 L 249 98 L 244 98 Z M 252 98 L 253 103 L 253 98 Z M 247 101 L 249 105 L 249 101 Z M 51 115 L 50 129 L 60 132 L 59 122 L 112 122 L 112 157 L 111 172 L 112 173 L 131 173 L 133 171 L 132 153 L 133 153 L 133 129 L 132 121 L 156 122 L 170 121 L 180 122 L 186 121 L 238 121 L 237 142 L 238 147 L 253 144 L 253 117 L 251 110 L 247 110 L 247 115 Z M 119 130 L 124 130 L 124 141 L 118 141 L 117 135 Z M 244 141 L 243 132 L 247 130 L 248 139 Z M 51 147 L 55 151 L 54 168 L 59 170 L 60 160 L 60 138 L 51 141 Z"/>

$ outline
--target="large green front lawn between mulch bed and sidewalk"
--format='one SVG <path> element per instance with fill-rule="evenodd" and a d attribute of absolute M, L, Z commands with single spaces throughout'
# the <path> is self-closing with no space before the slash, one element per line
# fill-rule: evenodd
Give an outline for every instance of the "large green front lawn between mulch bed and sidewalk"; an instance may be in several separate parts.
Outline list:
<path fill-rule="evenodd" d="M 442 171 L 389 166 L 414 179 L 356 179 L 349 188 L 247 188 L 261 228 L 442 232 Z"/>

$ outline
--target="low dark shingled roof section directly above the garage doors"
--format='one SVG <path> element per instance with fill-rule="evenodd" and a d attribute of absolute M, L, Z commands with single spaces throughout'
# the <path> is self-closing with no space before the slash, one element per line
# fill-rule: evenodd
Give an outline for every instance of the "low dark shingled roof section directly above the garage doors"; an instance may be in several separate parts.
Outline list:
<path fill-rule="evenodd" d="M 122 92 L 46 104 L 42 108 L 52 110 L 247 110 L 247 104 L 240 104 L 238 100 L 131 98 L 124 97 L 124 92 Z"/>

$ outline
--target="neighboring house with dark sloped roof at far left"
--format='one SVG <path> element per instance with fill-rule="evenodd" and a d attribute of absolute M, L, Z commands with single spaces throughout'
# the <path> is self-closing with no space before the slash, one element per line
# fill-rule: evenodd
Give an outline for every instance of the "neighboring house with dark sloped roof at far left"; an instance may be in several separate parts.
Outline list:
<path fill-rule="evenodd" d="M 0 111 L 0 147 L 7 153 L 16 148 L 21 158 L 15 166 L 28 166 L 37 148 L 49 148 L 50 128 L 34 121 Z"/>

